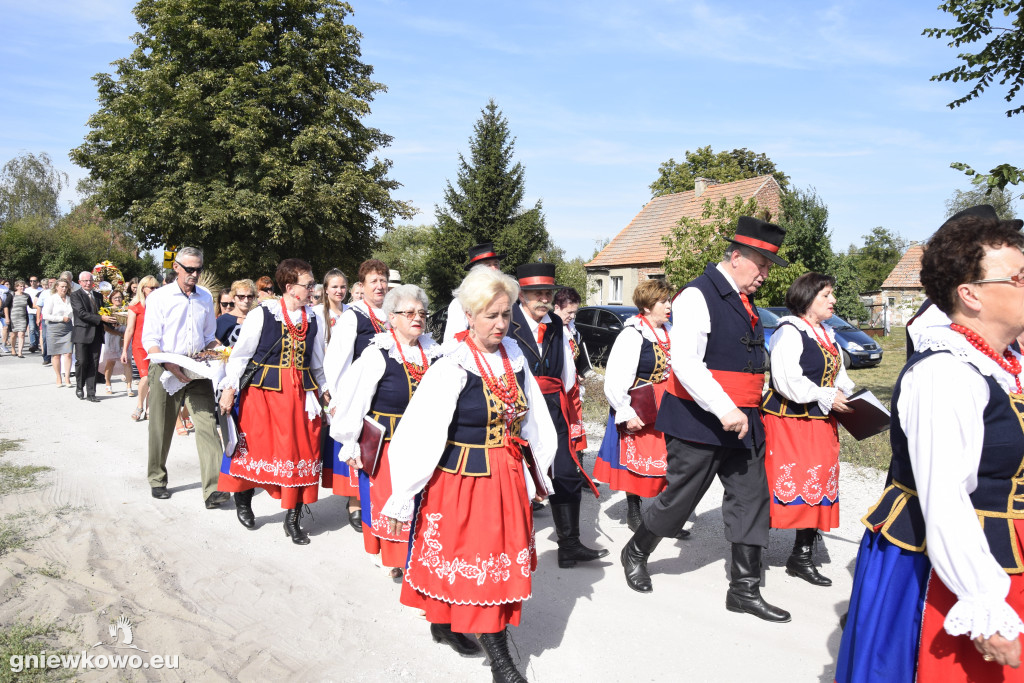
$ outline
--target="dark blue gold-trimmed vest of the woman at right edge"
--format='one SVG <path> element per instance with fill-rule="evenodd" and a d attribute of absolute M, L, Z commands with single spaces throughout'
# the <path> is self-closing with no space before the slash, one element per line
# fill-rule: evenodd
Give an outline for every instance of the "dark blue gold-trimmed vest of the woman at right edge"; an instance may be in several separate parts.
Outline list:
<path fill-rule="evenodd" d="M 910 467 L 906 434 L 899 422 L 898 401 L 907 369 L 933 353 L 948 351 L 914 353 L 896 381 L 889 430 L 893 457 L 887 487 L 863 519 L 872 531 L 881 532 L 900 548 L 916 552 L 926 550 L 925 515 Z M 1022 573 L 1024 561 L 1017 553 L 1014 520 L 1024 519 L 1024 479 L 1019 475 L 1024 467 L 1024 396 L 1008 396 L 994 379 L 982 377 L 988 384 L 989 397 L 982 414 L 985 435 L 978 465 L 978 487 L 971 494 L 971 502 L 999 566 L 1007 573 Z M 956 400 L 956 397 L 948 399 Z"/>

